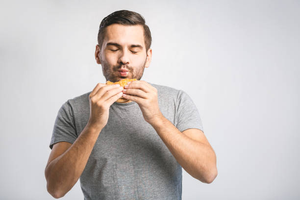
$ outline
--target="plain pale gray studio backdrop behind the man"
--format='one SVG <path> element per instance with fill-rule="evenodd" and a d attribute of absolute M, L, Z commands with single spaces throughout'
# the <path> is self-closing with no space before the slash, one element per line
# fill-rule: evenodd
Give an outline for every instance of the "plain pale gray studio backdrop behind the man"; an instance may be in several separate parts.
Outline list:
<path fill-rule="evenodd" d="M 182 199 L 300 199 L 300 1 L 0 2 L 1 200 L 53 199 L 58 109 L 105 82 L 98 29 L 122 9 L 151 30 L 142 80 L 187 92 L 217 155 L 211 184 L 183 171 Z M 79 181 L 61 199 L 82 200 Z"/>

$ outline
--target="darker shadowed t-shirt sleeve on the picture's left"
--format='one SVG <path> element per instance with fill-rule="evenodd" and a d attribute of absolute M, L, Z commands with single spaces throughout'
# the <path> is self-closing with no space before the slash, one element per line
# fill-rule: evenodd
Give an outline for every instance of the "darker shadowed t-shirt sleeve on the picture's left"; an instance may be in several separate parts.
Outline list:
<path fill-rule="evenodd" d="M 59 109 L 57 117 L 55 119 L 52 137 L 50 142 L 50 149 L 57 142 L 69 142 L 73 144 L 77 139 L 74 112 L 72 106 L 66 101 Z"/>

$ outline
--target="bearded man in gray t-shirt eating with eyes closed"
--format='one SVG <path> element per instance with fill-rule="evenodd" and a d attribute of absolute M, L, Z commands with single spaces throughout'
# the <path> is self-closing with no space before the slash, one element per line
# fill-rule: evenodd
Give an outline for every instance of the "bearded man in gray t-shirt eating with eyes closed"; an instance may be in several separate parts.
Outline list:
<path fill-rule="evenodd" d="M 140 14 L 121 10 L 102 20 L 95 58 L 106 81 L 137 80 L 125 89 L 98 83 L 61 106 L 45 169 L 54 198 L 80 177 L 85 200 L 179 200 L 181 167 L 204 183 L 216 177 L 216 155 L 190 97 L 141 80 L 150 45 Z M 128 101 L 116 102 L 121 97 Z"/>

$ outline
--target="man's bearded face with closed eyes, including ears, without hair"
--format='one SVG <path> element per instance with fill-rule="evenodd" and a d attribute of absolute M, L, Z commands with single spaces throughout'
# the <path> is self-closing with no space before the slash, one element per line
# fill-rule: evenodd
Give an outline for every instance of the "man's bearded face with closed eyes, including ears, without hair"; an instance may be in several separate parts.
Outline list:
<path fill-rule="evenodd" d="M 101 51 L 99 45 L 96 45 L 95 52 L 96 61 L 102 65 L 106 81 L 111 82 L 125 78 L 140 80 L 144 68 L 150 65 L 151 56 L 151 49 L 146 52 L 142 25 L 107 26 Z"/>

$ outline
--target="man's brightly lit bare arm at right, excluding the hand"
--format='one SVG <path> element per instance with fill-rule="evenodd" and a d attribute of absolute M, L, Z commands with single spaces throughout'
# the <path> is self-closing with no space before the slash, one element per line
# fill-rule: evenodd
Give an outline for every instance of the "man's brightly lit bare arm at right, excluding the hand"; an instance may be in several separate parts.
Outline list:
<path fill-rule="evenodd" d="M 218 174 L 216 154 L 202 131 L 188 129 L 180 132 L 163 116 L 152 126 L 187 173 L 204 183 L 215 179 Z"/>

